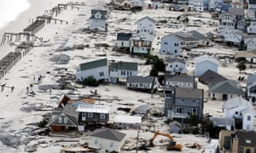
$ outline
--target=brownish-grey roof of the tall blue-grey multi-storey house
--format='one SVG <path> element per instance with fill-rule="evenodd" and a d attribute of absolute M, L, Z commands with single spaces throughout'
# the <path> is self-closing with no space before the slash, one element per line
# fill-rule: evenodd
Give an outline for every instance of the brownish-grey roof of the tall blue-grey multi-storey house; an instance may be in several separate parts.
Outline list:
<path fill-rule="evenodd" d="M 203 99 L 203 89 L 198 88 L 176 88 L 176 98 Z"/>

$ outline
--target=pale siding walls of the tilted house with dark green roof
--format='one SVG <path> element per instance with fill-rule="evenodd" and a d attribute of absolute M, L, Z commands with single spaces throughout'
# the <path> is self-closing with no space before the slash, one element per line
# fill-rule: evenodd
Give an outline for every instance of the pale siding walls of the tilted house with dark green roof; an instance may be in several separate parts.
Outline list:
<path fill-rule="evenodd" d="M 100 72 L 103 72 L 103 76 L 100 76 Z M 109 81 L 109 72 L 108 66 L 101 66 L 94 69 L 84 70 L 84 71 L 77 71 L 76 78 L 79 82 L 84 81 L 84 78 L 93 76 L 96 80 L 104 79 L 106 82 Z"/>

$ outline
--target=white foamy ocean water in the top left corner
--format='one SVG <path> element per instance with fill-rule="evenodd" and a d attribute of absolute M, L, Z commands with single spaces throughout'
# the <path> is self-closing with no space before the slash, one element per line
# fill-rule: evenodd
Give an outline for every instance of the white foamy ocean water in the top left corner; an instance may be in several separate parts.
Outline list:
<path fill-rule="evenodd" d="M 0 29 L 8 26 L 29 7 L 30 3 L 27 0 L 0 0 Z"/>

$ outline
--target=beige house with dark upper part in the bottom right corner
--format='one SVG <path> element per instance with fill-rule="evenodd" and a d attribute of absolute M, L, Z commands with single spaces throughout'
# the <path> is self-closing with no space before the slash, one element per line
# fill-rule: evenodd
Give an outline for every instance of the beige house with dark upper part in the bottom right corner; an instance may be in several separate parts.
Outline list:
<path fill-rule="evenodd" d="M 222 130 L 218 137 L 218 149 L 225 152 L 254 153 L 256 133 Z"/>

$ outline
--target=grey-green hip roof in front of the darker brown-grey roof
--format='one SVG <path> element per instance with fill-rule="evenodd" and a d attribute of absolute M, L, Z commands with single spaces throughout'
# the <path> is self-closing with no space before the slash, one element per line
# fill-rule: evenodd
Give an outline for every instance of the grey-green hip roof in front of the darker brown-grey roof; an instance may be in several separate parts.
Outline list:
<path fill-rule="evenodd" d="M 222 93 L 222 94 L 238 94 L 238 95 L 243 94 L 239 83 L 233 80 L 217 82 L 209 87 L 209 91 L 212 93 Z"/>

